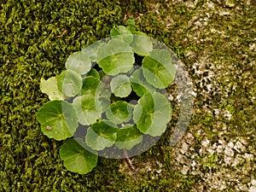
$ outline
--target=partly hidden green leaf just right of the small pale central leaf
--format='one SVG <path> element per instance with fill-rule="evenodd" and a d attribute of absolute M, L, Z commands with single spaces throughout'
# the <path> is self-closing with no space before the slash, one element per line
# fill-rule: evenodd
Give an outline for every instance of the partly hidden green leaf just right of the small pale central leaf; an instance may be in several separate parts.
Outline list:
<path fill-rule="evenodd" d="M 155 88 L 148 84 L 147 80 L 143 76 L 142 68 L 137 69 L 131 74 L 132 89 L 137 93 L 137 96 L 144 96 L 149 92 L 153 93 Z"/>

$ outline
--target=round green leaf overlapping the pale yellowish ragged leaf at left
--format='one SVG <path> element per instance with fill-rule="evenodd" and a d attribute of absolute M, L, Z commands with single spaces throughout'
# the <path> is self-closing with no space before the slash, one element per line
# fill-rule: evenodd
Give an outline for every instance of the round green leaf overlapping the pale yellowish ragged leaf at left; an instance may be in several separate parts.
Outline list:
<path fill-rule="evenodd" d="M 72 70 L 63 71 L 57 76 L 58 89 L 67 97 L 79 94 L 82 88 L 82 77 Z"/>

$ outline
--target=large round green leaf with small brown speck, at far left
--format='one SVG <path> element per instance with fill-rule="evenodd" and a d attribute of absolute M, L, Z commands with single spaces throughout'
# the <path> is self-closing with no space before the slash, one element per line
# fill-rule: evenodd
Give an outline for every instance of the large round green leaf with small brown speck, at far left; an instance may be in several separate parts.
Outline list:
<path fill-rule="evenodd" d="M 65 101 L 45 103 L 38 110 L 37 119 L 44 135 L 57 141 L 72 137 L 79 126 L 75 110 Z"/>

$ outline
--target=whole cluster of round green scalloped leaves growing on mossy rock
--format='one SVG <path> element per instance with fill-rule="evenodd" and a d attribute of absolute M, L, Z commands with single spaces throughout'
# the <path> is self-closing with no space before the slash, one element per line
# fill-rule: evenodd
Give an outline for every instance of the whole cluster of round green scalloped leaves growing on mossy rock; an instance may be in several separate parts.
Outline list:
<path fill-rule="evenodd" d="M 142 63 L 135 56 L 143 56 Z M 61 146 L 68 170 L 90 172 L 96 151 L 113 145 L 130 150 L 143 141 L 143 134 L 156 137 L 166 131 L 172 108 L 159 90 L 172 83 L 176 70 L 169 52 L 154 49 L 142 32 L 115 27 L 111 38 L 70 55 L 66 68 L 41 80 L 40 89 L 50 101 L 38 110 L 37 119 L 44 135 L 57 141 L 73 137 L 79 125 L 86 129 L 85 137 Z M 127 102 L 131 95 L 140 98 Z"/>

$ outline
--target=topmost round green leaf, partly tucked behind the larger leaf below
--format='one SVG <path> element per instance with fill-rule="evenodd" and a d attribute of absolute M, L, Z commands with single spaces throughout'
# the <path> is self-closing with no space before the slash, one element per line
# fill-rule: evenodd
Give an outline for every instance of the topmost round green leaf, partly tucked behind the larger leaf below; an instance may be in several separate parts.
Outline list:
<path fill-rule="evenodd" d="M 123 39 L 126 43 L 131 44 L 133 35 L 125 26 L 117 26 L 111 29 L 110 35 L 112 38 Z"/>

